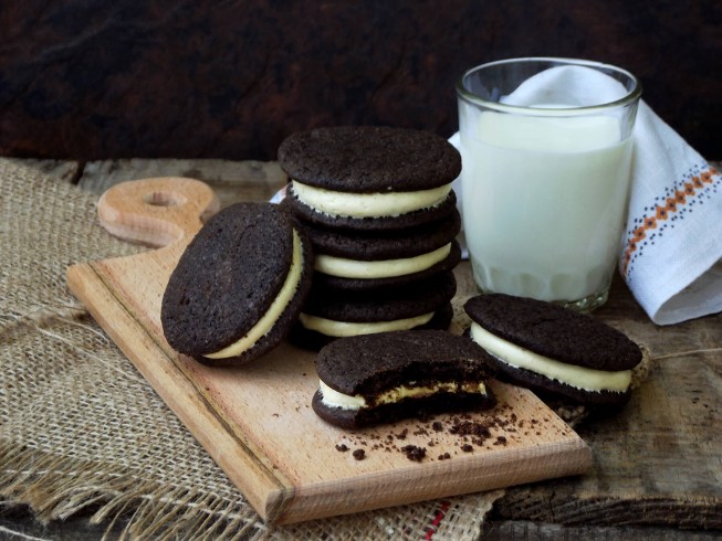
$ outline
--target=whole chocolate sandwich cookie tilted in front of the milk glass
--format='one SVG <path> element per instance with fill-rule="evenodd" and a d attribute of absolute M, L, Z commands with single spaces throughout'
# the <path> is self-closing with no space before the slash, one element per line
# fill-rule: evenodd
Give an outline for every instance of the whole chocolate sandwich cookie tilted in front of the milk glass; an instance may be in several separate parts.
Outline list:
<path fill-rule="evenodd" d="M 622 332 L 557 305 L 502 294 L 464 305 L 469 336 L 514 383 L 594 405 L 629 400 L 641 350 Z"/>

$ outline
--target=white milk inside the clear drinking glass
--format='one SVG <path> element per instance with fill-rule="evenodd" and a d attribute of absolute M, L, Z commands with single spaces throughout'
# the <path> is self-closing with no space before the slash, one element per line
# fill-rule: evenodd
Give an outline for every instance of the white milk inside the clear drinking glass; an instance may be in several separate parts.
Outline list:
<path fill-rule="evenodd" d="M 606 291 L 631 158 L 618 119 L 469 112 L 462 214 L 477 284 L 543 300 Z"/>

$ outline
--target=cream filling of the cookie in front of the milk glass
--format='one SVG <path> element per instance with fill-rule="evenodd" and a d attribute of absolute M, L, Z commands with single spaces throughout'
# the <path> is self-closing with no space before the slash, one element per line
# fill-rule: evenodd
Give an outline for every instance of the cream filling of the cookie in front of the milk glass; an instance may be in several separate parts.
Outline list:
<path fill-rule="evenodd" d="M 607 372 L 555 361 L 503 340 L 474 322 L 471 323 L 471 338 L 511 367 L 530 370 L 576 389 L 625 392 L 631 383 L 631 370 Z"/>

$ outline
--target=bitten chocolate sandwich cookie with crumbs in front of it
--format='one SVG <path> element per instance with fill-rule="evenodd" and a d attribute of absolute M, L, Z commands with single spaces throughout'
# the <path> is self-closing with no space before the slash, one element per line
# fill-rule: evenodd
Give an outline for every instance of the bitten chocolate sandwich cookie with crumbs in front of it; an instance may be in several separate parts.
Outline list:
<path fill-rule="evenodd" d="M 420 413 L 482 410 L 496 400 L 486 386 L 495 369 L 471 340 L 440 330 L 344 338 L 316 358 L 312 406 L 343 428 L 390 423 Z"/>

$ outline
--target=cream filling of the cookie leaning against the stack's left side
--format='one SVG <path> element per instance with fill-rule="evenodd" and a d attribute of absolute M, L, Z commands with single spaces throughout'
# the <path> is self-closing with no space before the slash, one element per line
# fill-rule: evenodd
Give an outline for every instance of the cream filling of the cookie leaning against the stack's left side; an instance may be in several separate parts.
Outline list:
<path fill-rule="evenodd" d="M 301 275 L 303 273 L 303 246 L 301 244 L 301 237 L 296 230 L 293 230 L 293 259 L 291 262 L 291 268 L 289 274 L 279 291 L 279 295 L 275 297 L 268 311 L 259 319 L 259 321 L 249 330 L 243 338 L 237 342 L 231 343 L 230 346 L 223 348 L 220 351 L 214 353 L 207 353 L 203 357 L 208 359 L 227 359 L 229 357 L 236 357 L 241 354 L 243 351 L 250 349 L 261 337 L 265 336 L 266 332 L 279 320 L 283 310 L 285 310 L 289 303 L 293 299 L 293 295 L 299 288 L 299 283 L 301 282 Z M 242 276 L 239 276 L 238 279 L 243 279 Z"/>

